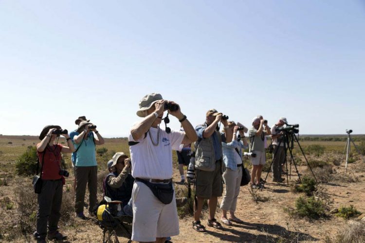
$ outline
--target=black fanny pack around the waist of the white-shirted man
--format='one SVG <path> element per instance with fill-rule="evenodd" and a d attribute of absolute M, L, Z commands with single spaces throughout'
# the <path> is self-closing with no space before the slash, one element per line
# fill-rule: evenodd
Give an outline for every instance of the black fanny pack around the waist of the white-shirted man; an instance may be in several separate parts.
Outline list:
<path fill-rule="evenodd" d="M 153 195 L 155 195 L 155 197 L 157 197 L 163 204 L 170 204 L 172 202 L 172 198 L 174 196 L 172 181 L 168 184 L 151 183 L 141 178 L 136 178 L 136 181 L 140 181 L 145 184 L 152 191 Z"/>

